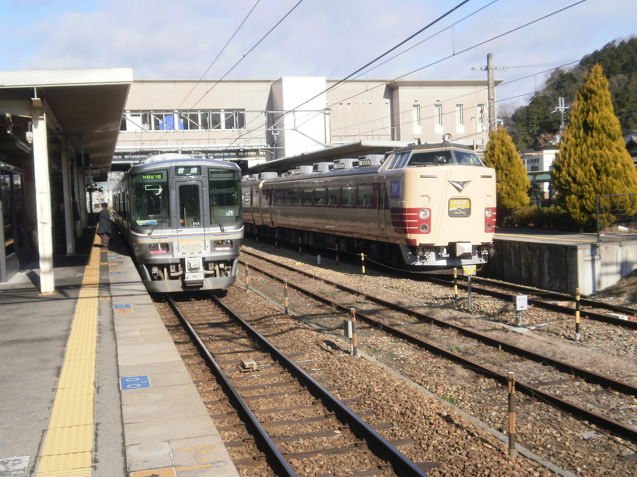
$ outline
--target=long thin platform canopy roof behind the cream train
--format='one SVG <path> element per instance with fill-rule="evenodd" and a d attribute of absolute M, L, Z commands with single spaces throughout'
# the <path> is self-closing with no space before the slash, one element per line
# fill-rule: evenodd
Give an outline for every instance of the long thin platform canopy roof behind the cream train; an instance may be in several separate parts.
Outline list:
<path fill-rule="evenodd" d="M 413 141 L 412 141 L 413 142 Z M 317 162 L 332 162 L 335 159 L 357 158 L 368 154 L 385 154 L 396 148 L 404 148 L 410 141 L 354 141 L 318 149 L 296 156 L 284 157 L 250 167 L 249 172 L 285 172 L 286 170 L 311 165 Z"/>

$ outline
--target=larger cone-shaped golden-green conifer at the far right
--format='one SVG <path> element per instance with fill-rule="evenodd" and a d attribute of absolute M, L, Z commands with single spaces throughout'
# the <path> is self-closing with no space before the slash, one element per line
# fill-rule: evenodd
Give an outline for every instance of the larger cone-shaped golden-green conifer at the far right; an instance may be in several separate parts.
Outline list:
<path fill-rule="evenodd" d="M 637 170 L 626 151 L 608 79 L 599 64 L 584 76 L 553 166 L 557 197 L 582 227 L 595 224 L 596 195 L 637 192 Z M 637 212 L 637 198 L 605 199 L 600 209 L 600 225 L 606 226 L 618 210 L 621 216 Z"/>

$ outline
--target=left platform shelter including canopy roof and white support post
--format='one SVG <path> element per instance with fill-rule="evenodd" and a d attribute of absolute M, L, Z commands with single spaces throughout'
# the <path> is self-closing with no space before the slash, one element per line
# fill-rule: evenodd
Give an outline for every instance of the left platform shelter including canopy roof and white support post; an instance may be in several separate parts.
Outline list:
<path fill-rule="evenodd" d="M 88 225 L 85 184 L 111 167 L 131 68 L 0 72 L 0 282 L 75 254 Z"/>

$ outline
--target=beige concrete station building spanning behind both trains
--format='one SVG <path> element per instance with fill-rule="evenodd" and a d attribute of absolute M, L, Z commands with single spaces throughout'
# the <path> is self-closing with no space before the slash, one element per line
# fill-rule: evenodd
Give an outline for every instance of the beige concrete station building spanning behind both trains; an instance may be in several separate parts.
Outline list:
<path fill-rule="evenodd" d="M 355 79 L 136 79 L 113 165 L 160 152 L 210 153 L 245 166 L 357 141 L 483 148 L 487 82 Z M 398 145 L 398 144 L 397 144 Z M 389 149 L 388 149 L 389 150 Z"/>

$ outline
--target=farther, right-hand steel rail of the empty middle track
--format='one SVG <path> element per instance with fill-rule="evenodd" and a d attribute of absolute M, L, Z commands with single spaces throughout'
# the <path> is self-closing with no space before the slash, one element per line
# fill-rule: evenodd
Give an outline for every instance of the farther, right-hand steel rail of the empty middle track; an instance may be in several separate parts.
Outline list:
<path fill-rule="evenodd" d="M 441 320 L 439 318 L 433 317 L 431 315 L 427 315 L 426 313 L 419 312 L 418 310 L 413 310 L 412 308 L 403 307 L 403 305 L 398 305 L 397 303 L 392 303 L 391 301 L 383 300 L 383 298 L 379 298 L 378 296 L 371 295 L 364 291 L 360 291 L 352 287 L 348 287 L 346 285 L 333 282 L 332 280 L 324 279 L 322 277 L 317 277 L 317 275 L 313 275 L 312 273 L 296 270 L 296 268 L 292 266 L 285 265 L 283 263 L 278 263 L 275 260 L 264 258 L 257 254 L 252 254 L 250 252 L 246 252 L 246 251 L 243 251 L 243 252 L 250 254 L 252 256 L 255 256 L 257 258 L 260 258 L 264 261 L 268 261 L 269 263 L 273 263 L 273 265 L 278 265 L 278 266 L 281 266 L 282 268 L 286 268 L 287 270 L 291 270 L 292 272 L 301 273 L 302 275 L 306 277 L 313 277 L 315 279 L 322 280 L 322 282 L 332 285 L 334 287 L 337 287 L 343 291 L 347 291 L 348 293 L 364 296 L 364 298 L 366 298 L 367 300 L 378 303 L 379 305 L 383 305 L 384 307 L 391 308 L 392 310 L 396 310 L 398 312 L 408 314 L 408 315 L 415 315 L 415 317 L 417 317 L 421 321 L 427 321 L 427 322 L 433 323 L 436 326 L 440 326 L 441 328 L 454 329 L 455 331 L 457 331 L 457 333 L 467 336 L 468 338 L 473 338 L 474 340 L 478 340 L 484 343 L 485 345 L 502 349 L 508 353 L 515 354 L 520 357 L 524 357 L 536 363 L 544 364 L 545 366 L 554 366 L 556 370 L 562 371 L 562 373 L 568 373 L 569 375 L 573 375 L 578 378 L 582 378 L 586 382 L 589 382 L 592 384 L 599 384 L 602 387 L 605 387 L 607 389 L 612 389 L 613 391 L 621 392 L 622 394 L 628 394 L 629 396 L 637 397 L 637 386 L 633 386 L 631 384 L 617 380 L 615 378 L 610 378 L 608 376 L 596 373 L 595 371 L 585 370 L 584 368 L 580 368 L 579 366 L 575 366 L 574 364 L 566 363 L 565 361 L 561 361 L 559 359 L 555 359 L 540 353 L 536 353 L 531 350 L 520 348 L 519 346 L 513 345 L 505 341 L 498 340 L 497 338 L 493 338 L 492 336 L 483 335 L 482 333 L 478 331 L 473 331 L 472 329 L 464 328 L 463 326 L 458 326 L 457 324 L 453 324 L 453 323 Z M 245 261 L 242 261 L 241 259 L 240 261 L 241 263 L 245 263 Z M 257 266 L 254 266 L 251 264 L 248 264 L 248 265 L 252 266 L 252 268 L 257 270 L 258 272 L 265 273 L 266 275 L 270 275 L 272 278 L 276 280 L 283 280 L 281 277 L 277 277 L 273 273 L 266 272 L 265 270 L 262 270 L 261 268 Z M 313 294 L 317 296 L 318 298 L 320 298 L 320 300 L 329 301 L 329 299 L 323 298 L 320 295 L 316 295 L 315 293 L 311 292 L 308 289 L 305 289 L 304 287 L 298 284 L 294 284 L 294 287 L 303 293 Z M 330 301 L 330 303 L 333 303 L 333 301 Z M 349 308 L 347 311 L 349 311 Z M 383 326 L 387 326 L 387 325 L 383 324 Z"/>

